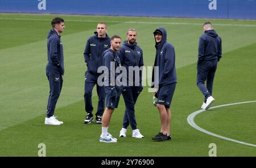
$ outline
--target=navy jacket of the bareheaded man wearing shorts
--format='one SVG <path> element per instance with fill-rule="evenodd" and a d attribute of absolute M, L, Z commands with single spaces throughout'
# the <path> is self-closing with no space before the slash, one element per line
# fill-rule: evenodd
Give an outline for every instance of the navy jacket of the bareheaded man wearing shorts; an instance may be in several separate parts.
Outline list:
<path fill-rule="evenodd" d="M 117 76 L 121 73 L 116 73 L 116 68 L 121 68 L 121 61 L 117 53 L 115 53 L 112 49 L 108 49 L 103 52 L 103 62 L 105 66 L 105 74 L 104 74 L 104 86 L 109 87 L 121 87 L 121 83 L 117 82 Z M 117 85 L 118 84 L 118 85 Z"/>

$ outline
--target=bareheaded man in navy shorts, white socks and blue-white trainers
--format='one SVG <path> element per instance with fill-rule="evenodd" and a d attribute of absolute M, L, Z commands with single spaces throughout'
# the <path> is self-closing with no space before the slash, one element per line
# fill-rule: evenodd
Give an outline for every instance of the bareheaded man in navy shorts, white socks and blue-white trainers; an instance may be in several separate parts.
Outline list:
<path fill-rule="evenodd" d="M 104 51 L 104 89 L 106 93 L 106 108 L 102 116 L 102 132 L 100 142 L 116 143 L 117 139 L 114 138 L 109 132 L 108 127 L 114 109 L 118 107 L 119 98 L 121 96 L 121 81 L 118 82 L 117 76 L 119 73 L 115 68 L 121 68 L 121 61 L 118 57 L 117 51 L 121 47 L 121 37 L 115 35 L 111 37 L 110 49 Z"/>

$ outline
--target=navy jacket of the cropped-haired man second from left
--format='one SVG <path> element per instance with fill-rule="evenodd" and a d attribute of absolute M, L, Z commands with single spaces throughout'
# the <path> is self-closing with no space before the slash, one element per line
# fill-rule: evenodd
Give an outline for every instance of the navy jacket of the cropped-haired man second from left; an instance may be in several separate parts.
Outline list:
<path fill-rule="evenodd" d="M 94 36 L 90 37 L 85 46 L 84 59 L 87 63 L 87 71 L 93 75 L 100 75 L 97 73 L 98 67 L 103 66 L 102 53 L 110 48 L 110 41 L 108 35 L 105 38 L 99 38 L 98 33 L 94 32 Z"/>

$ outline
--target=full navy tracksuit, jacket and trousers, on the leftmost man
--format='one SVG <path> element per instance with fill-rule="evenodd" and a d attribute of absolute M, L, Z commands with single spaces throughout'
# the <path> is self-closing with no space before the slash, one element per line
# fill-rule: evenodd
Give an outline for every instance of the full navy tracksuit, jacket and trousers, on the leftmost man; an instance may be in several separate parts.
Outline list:
<path fill-rule="evenodd" d="M 47 36 L 47 56 L 46 76 L 49 81 L 49 97 L 47 104 L 47 118 L 54 115 L 55 106 L 60 96 L 64 75 L 64 55 L 63 45 L 60 36 L 55 29 L 51 29 Z"/>

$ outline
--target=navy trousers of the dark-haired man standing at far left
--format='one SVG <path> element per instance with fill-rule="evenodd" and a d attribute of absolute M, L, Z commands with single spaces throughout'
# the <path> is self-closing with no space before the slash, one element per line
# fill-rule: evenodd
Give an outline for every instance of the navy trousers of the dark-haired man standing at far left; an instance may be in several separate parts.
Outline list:
<path fill-rule="evenodd" d="M 50 88 L 46 112 L 46 117 L 49 118 L 54 115 L 55 106 L 60 96 L 63 84 L 63 78 L 59 72 L 53 70 L 46 70 L 46 76 L 48 78 Z"/>

